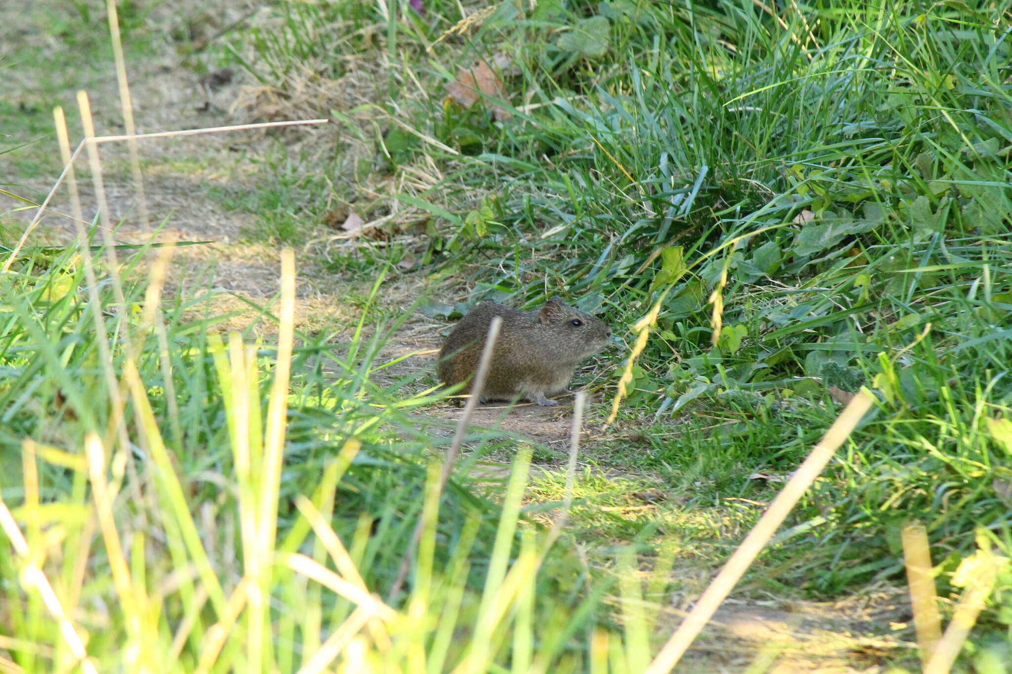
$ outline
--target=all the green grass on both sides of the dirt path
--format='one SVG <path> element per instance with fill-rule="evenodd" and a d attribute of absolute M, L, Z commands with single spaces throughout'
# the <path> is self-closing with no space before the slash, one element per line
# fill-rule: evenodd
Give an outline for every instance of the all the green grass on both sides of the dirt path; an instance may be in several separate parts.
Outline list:
<path fill-rule="evenodd" d="M 336 349 L 327 334 L 297 335 L 290 360 L 278 360 L 272 339 L 220 335 L 226 316 L 202 297 L 164 298 L 162 332 L 145 323 L 140 258 L 121 277 L 126 306 L 140 310 L 110 311 L 120 277 L 99 267 L 89 299 L 79 249 L 29 251 L 0 277 L 0 487 L 100 669 L 193 671 L 245 579 L 270 601 L 244 604 L 212 669 L 293 671 L 357 616 L 284 554 L 346 579 L 353 568 L 386 598 L 421 519 L 406 592 L 378 633 L 361 633 L 373 666 L 449 671 L 478 658 L 460 671 L 642 671 L 638 635 L 656 615 L 629 618 L 640 597 L 697 592 L 679 572 L 719 566 L 779 486 L 753 475 L 793 471 L 838 414 L 840 391 L 862 385 L 873 411 L 753 566 L 744 595 L 834 599 L 902 584 L 900 531 L 912 519 L 927 526 L 946 615 L 961 563 L 992 548 L 1012 556 L 1006 10 L 504 3 L 427 52 L 460 18 L 457 5 L 433 0 L 423 16 L 401 6 L 397 21 L 380 7 L 282 3 L 212 47 L 275 88 L 271 114 L 334 121 L 305 145 L 285 136 L 252 157 L 256 188 L 207 190 L 257 215 L 254 239 L 306 244 L 342 208 L 390 216 L 391 245 L 319 254 L 321 268 L 369 279 L 362 288 L 399 274 L 418 287 L 466 286 L 467 297 L 439 298 L 448 310 L 483 298 L 529 308 L 561 294 L 599 311 L 625 348 L 579 381 L 610 402 L 626 367 L 632 379 L 615 423 L 584 455 L 623 477 L 579 475 L 567 535 L 540 559 L 551 537 L 536 520 L 565 497 L 565 479 L 538 475 L 521 507 L 529 456 L 480 435 L 466 466 L 516 455 L 510 486 L 461 469 L 436 494 L 444 441 L 416 413 L 433 398 L 408 392 L 426 375 L 373 382 L 378 349 L 406 314 L 360 294 L 374 331 L 350 326 Z M 510 120 L 493 118 L 492 101 L 463 110 L 444 100 L 457 64 L 500 51 L 513 59 L 502 73 Z M 307 73 L 330 93 L 298 98 L 317 82 Z M 346 93 L 362 73 L 375 78 L 367 102 Z M 2 246 L 10 226 L 0 224 Z M 652 308 L 650 340 L 632 357 L 634 325 Z M 277 311 L 262 307 L 261 320 Z M 282 396 L 272 373 L 286 362 Z M 130 367 L 117 428 L 107 373 Z M 280 452 L 265 428 L 281 423 L 282 399 L 283 470 L 261 479 L 244 457 Z M 591 421 L 607 413 L 594 408 Z M 109 485 L 88 471 L 89 437 L 105 448 Z M 560 461 L 542 448 L 533 456 Z M 103 494 L 117 529 L 99 543 L 108 532 L 90 513 Z M 265 499 L 277 507 L 262 519 Z M 276 541 L 250 528 L 270 517 Z M 101 570 L 115 541 L 126 575 L 110 580 Z M 6 653 L 27 671 L 70 669 L 38 594 L 19 584 L 27 563 L 0 556 L 10 606 L 0 628 L 22 640 Z M 1004 671 L 1012 571 L 1001 564 L 961 671 Z M 653 576 L 630 583 L 641 566 Z M 599 628 L 612 640 L 603 660 Z M 916 667 L 904 649 L 882 660 Z"/>

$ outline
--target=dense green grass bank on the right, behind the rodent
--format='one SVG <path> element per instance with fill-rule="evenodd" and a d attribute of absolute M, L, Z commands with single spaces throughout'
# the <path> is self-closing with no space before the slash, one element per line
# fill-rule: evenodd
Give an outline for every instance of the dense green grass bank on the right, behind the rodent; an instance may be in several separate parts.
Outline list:
<path fill-rule="evenodd" d="M 396 159 L 374 170 L 396 182 L 436 163 L 441 181 L 391 203 L 428 221 L 414 254 L 463 280 L 470 301 L 562 293 L 625 326 L 661 303 L 620 431 L 591 452 L 677 489 L 704 476 L 705 494 L 761 498 L 748 476 L 791 471 L 835 417 L 830 387 L 863 384 L 879 402 L 797 512 L 803 534 L 784 548 L 798 563 L 779 580 L 834 597 L 902 579 L 911 518 L 948 559 L 943 587 L 979 537 L 1012 552 L 1012 454 L 989 422 L 1012 403 L 1007 11 L 504 3 L 424 53 L 456 19 L 436 2 L 392 28 L 410 74 L 391 72 L 391 101 L 371 113 L 377 154 Z M 252 52 L 325 62 L 334 34 L 304 34 L 298 50 Z M 347 44 L 366 60 L 383 49 Z M 454 64 L 497 51 L 513 59 L 511 120 L 444 102 Z M 276 66 L 254 70 L 281 81 Z M 393 120 L 406 114 L 459 154 L 405 135 Z M 630 449 L 647 423 L 668 432 Z M 996 601 L 988 619 L 1007 623 Z"/>

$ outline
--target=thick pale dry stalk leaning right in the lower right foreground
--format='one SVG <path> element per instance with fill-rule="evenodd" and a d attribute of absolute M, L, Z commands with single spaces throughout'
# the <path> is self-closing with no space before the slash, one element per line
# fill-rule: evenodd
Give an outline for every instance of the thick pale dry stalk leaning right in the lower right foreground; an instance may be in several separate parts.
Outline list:
<path fill-rule="evenodd" d="M 873 397 L 862 389 L 850 404 L 847 405 L 833 425 L 829 427 L 823 439 L 816 445 L 805 463 L 794 472 L 787 484 L 777 494 L 769 508 L 763 513 L 755 527 L 749 533 L 738 550 L 731 556 L 724 568 L 710 582 L 695 606 L 657 654 L 647 668 L 646 674 L 666 674 L 674 669 L 689 646 L 702 631 L 703 625 L 713 615 L 718 606 L 727 598 L 735 585 L 745 574 L 755 558 L 762 552 L 776 529 L 783 523 L 787 514 L 812 485 L 826 464 L 833 458 L 833 453 L 843 445 L 858 421 L 871 407 Z"/>

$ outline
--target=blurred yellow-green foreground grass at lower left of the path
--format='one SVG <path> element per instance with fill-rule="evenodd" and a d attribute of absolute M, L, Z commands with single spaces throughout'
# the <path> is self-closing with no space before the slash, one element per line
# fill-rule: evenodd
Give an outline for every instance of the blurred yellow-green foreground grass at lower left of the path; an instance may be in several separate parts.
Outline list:
<path fill-rule="evenodd" d="M 140 260 L 126 259 L 125 269 Z M 441 455 L 432 452 L 439 443 L 426 428 L 436 420 L 411 414 L 431 398 L 404 398 L 399 385 L 385 389 L 370 381 L 386 340 L 383 325 L 370 341 L 356 338 L 338 353 L 326 339 L 304 335 L 288 361 L 289 385 L 277 389 L 273 345 L 221 334 L 216 325 L 225 316 L 207 314 L 200 299 L 164 298 L 153 324 L 142 277 L 122 281 L 126 306 L 138 311 L 106 314 L 106 333 L 96 336 L 96 312 L 117 303 L 107 282 L 96 289 L 97 303 L 88 300 L 90 265 L 69 247 L 25 256 L 0 281 L 0 456 L 7 476 L 0 486 L 6 503 L 22 503 L 13 512 L 26 523 L 29 549 L 43 550 L 44 534 L 57 546 L 45 570 L 62 609 L 89 635 L 88 653 L 100 670 L 195 671 L 214 653 L 204 631 L 222 620 L 231 637 L 206 660 L 214 671 L 250 671 L 260 668 L 257 662 L 281 671 L 305 665 L 321 635 L 357 619 L 353 602 L 307 584 L 306 574 L 332 573 L 320 566 L 329 551 L 343 582 L 386 595 L 410 554 L 419 517 L 425 527 L 411 589 L 393 597 L 404 612 L 384 609 L 384 627 L 373 625 L 372 634 L 378 629 L 393 647 L 377 647 L 367 654 L 370 662 L 409 668 L 427 662 L 418 671 L 442 671 L 439 663 L 468 658 L 475 667 L 525 657 L 572 668 L 585 660 L 580 643 L 586 621 L 601 612 L 595 597 L 606 583 L 595 581 L 600 589 L 588 595 L 587 570 L 572 555 L 539 570 L 538 556 L 550 544 L 526 521 L 519 501 L 529 452 L 518 455 L 505 491 L 497 490 L 505 498 L 501 507 L 498 498 L 471 486 L 467 474 L 440 499 Z M 100 267 L 95 273 L 108 278 Z M 184 318 L 201 312 L 198 321 Z M 366 306 L 363 320 L 368 315 Z M 278 319 L 266 309 L 263 318 Z M 103 353 L 101 342 L 116 334 Z M 339 376 L 323 376 L 319 365 Z M 106 367 L 124 373 L 130 385 L 119 432 Z M 284 463 L 276 464 L 281 471 L 272 480 L 268 466 L 282 446 L 270 428 L 285 415 Z M 82 439 L 92 448 L 87 457 Z M 89 469 L 94 461 L 99 468 Z M 271 503 L 266 511 L 265 502 Z M 116 528 L 102 522 L 102 545 L 93 541 L 88 513 L 101 519 L 103 508 L 111 516 L 112 506 Z M 267 521 L 276 526 L 276 543 L 264 534 Z M 26 671 L 73 667 L 37 592 L 16 581 L 26 564 L 36 563 L 9 555 L 0 563 L 9 607 L 4 631 L 34 645 L 8 652 Z M 114 584 L 103 571 L 109 565 Z M 245 598 L 243 617 L 232 625 L 228 602 L 244 599 L 240 581 L 260 587 L 271 601 Z M 100 597 L 112 602 L 111 610 L 92 603 Z M 549 620 L 536 644 L 534 615 Z M 274 638 L 256 638 L 263 634 Z M 509 639 L 519 650 L 502 650 Z"/>

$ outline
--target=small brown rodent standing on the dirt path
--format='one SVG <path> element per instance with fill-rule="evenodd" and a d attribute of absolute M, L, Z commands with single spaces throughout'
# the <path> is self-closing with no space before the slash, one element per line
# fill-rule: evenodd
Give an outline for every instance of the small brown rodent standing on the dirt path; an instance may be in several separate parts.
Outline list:
<path fill-rule="evenodd" d="M 502 317 L 502 325 L 481 402 L 519 395 L 539 405 L 559 404 L 549 396 L 565 393 L 580 361 L 604 349 L 611 338 L 603 320 L 557 297 L 535 311 L 482 302 L 457 322 L 439 350 L 437 372 L 446 386 L 468 382 L 462 392 L 471 391 L 494 316 Z"/>

